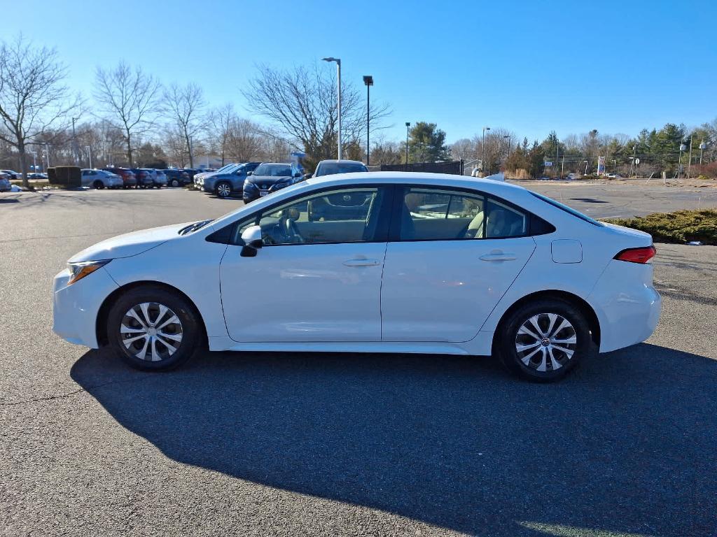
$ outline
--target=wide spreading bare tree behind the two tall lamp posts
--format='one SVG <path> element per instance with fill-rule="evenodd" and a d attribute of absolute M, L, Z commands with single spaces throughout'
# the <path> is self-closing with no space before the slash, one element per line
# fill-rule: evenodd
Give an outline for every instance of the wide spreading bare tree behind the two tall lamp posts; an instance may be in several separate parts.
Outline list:
<path fill-rule="evenodd" d="M 338 115 L 333 70 L 296 67 L 279 71 L 263 66 L 244 97 L 252 110 L 268 117 L 287 141 L 303 146 L 309 167 L 313 161 L 336 155 Z M 363 93 L 352 84 L 342 83 L 341 129 L 346 145 L 363 139 L 366 114 Z M 386 105 L 372 105 L 371 131 L 381 128 L 381 120 L 388 114 Z"/>

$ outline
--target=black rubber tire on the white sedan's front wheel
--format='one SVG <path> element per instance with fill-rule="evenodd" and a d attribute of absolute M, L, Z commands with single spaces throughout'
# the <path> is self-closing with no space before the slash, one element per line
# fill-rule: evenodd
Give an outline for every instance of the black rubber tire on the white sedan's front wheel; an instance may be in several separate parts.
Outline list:
<path fill-rule="evenodd" d="M 171 313 L 174 313 L 179 318 L 179 324 L 166 324 L 161 329 L 159 337 L 154 337 L 156 341 L 153 346 L 149 343 L 151 342 L 149 337 L 141 336 L 135 342 L 126 344 L 127 339 L 135 337 L 133 334 L 148 333 L 136 319 L 126 316 L 130 309 L 134 309 L 139 316 L 143 317 L 140 304 L 146 303 L 151 304 L 147 308 L 147 313 L 150 320 L 156 321 L 156 328 L 161 327 L 166 320 L 172 319 Z M 160 305 L 166 306 L 168 311 L 161 319 L 157 319 L 158 306 Z M 125 326 L 135 332 L 122 334 L 120 332 L 121 326 Z M 153 323 L 150 326 L 155 328 Z M 130 367 L 141 369 L 142 371 L 168 371 L 179 367 L 194 356 L 204 343 L 204 332 L 199 314 L 196 313 L 196 309 L 189 301 L 178 293 L 172 293 L 161 287 L 151 285 L 136 287 L 121 295 L 110 307 L 106 328 L 108 347 L 111 351 Z M 176 337 L 180 339 L 178 345 L 175 341 Z M 170 352 L 170 348 L 164 342 L 176 345 L 174 347 L 176 350 Z M 145 352 L 148 353 L 144 354 L 145 359 L 138 357 L 142 354 L 141 349 L 143 347 Z M 155 350 L 156 356 L 153 354 Z M 154 358 L 159 359 L 154 361 Z"/>

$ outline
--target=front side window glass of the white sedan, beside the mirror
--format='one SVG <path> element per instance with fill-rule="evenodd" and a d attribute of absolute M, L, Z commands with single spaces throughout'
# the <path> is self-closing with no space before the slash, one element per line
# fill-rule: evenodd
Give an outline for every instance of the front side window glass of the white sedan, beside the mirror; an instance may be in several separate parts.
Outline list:
<path fill-rule="evenodd" d="M 374 241 L 383 193 L 362 187 L 306 195 L 240 223 L 232 242 L 241 244 L 244 230 L 255 225 L 262 228 L 265 246 Z"/>

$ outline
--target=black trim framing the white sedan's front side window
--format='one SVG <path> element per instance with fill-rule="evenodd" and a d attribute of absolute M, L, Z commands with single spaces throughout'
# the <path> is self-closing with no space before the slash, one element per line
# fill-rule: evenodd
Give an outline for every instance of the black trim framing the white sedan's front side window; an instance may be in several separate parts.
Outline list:
<path fill-rule="evenodd" d="M 206 241 L 208 242 L 214 242 L 214 243 L 221 243 L 221 244 L 227 244 L 229 246 L 245 246 L 241 243 L 235 243 L 232 241 L 232 237 L 236 235 L 237 228 L 239 226 L 244 225 L 245 223 L 248 223 L 250 221 L 254 221 L 254 225 L 258 226 L 259 221 L 261 219 L 261 216 L 263 213 L 268 213 L 270 211 L 274 211 L 275 209 L 279 208 L 281 205 L 286 205 L 288 203 L 291 203 L 295 200 L 300 200 L 301 198 L 313 196 L 313 195 L 320 195 L 320 193 L 323 192 L 330 192 L 331 190 L 350 190 L 350 189 L 360 189 L 360 188 L 376 188 L 377 190 L 383 190 L 384 191 L 384 200 L 381 200 L 381 207 L 379 207 L 379 216 L 378 221 L 376 222 L 376 229 L 374 230 L 374 236 L 369 241 L 351 241 L 351 242 L 339 242 L 339 241 L 333 241 L 333 242 L 321 242 L 321 243 L 289 243 L 289 244 L 267 244 L 265 245 L 265 248 L 275 248 L 277 246 L 318 246 L 318 245 L 325 245 L 325 244 L 368 244 L 368 243 L 386 243 L 388 242 L 389 238 L 389 229 L 391 227 L 391 221 L 393 220 L 393 211 L 391 211 L 391 208 L 393 206 L 394 202 L 394 188 L 392 188 L 394 185 L 386 184 L 386 183 L 367 183 L 367 184 L 361 184 L 361 185 L 333 185 L 333 186 L 327 186 L 324 188 L 319 188 L 317 190 L 312 190 L 310 193 L 298 193 L 294 196 L 291 196 L 290 198 L 285 198 L 283 200 L 277 201 L 276 203 L 272 203 L 271 205 L 267 205 L 265 208 L 259 209 L 257 211 L 254 211 L 251 215 L 248 215 L 244 218 L 240 218 L 239 220 L 236 220 L 230 224 L 227 224 L 227 226 L 224 226 L 220 228 L 217 231 L 214 231 L 209 236 L 206 236 Z"/>

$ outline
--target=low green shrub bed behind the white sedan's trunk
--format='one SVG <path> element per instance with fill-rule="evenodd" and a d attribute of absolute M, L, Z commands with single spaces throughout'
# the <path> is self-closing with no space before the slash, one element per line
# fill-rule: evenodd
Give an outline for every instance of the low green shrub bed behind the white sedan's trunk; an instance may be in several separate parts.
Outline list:
<path fill-rule="evenodd" d="M 717 209 L 652 213 L 637 218 L 607 218 L 605 221 L 650 233 L 656 242 L 701 241 L 717 245 Z"/>

